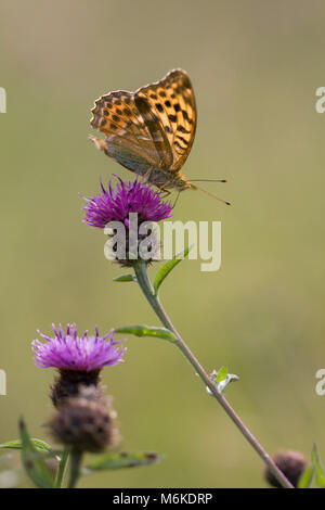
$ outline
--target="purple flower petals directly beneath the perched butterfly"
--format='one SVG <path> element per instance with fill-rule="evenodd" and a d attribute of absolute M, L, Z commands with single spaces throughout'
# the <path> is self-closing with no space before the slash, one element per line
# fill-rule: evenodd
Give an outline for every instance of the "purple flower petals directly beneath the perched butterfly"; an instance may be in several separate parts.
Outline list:
<path fill-rule="evenodd" d="M 105 190 L 102 181 L 102 191 L 93 197 L 84 197 L 83 207 L 86 217 L 83 221 L 91 227 L 105 228 L 109 221 L 122 221 L 129 227 L 129 213 L 138 213 L 139 224 L 142 221 L 160 221 L 172 216 L 170 202 L 161 201 L 161 192 L 153 191 L 148 184 L 138 181 L 123 182 L 119 179 L 116 190 L 112 188 L 109 179 Z"/>

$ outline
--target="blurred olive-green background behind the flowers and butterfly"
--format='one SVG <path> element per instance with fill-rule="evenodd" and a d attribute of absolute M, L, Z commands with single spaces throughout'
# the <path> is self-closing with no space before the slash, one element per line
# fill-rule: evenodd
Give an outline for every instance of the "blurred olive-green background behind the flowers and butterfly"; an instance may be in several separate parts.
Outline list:
<path fill-rule="evenodd" d="M 78 192 L 131 174 L 88 140 L 93 101 L 185 68 L 197 135 L 183 168 L 232 201 L 185 192 L 174 219 L 222 221 L 222 267 L 182 263 L 166 281 L 167 311 L 208 371 L 240 381 L 227 398 L 264 447 L 312 443 L 325 457 L 325 86 L 322 1 L 1 0 L 1 347 L 8 396 L 0 442 L 24 415 L 34 436 L 51 415 L 53 370 L 34 366 L 36 329 L 157 324 L 139 289 L 112 279 L 102 231 L 81 222 Z M 123 449 L 161 463 L 83 479 L 93 487 L 259 487 L 262 463 L 173 347 L 128 340 L 126 362 L 103 372 Z M 16 462 L 13 458 L 12 462 Z M 25 482 L 24 482 L 25 483 Z"/>

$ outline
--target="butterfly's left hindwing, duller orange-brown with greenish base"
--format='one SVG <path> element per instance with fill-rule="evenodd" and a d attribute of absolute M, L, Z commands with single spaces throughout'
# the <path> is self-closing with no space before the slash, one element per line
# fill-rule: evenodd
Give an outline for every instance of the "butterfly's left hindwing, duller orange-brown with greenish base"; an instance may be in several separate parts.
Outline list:
<path fill-rule="evenodd" d="M 168 154 L 171 163 L 168 140 L 146 100 L 133 92 L 110 92 L 95 101 L 92 114 L 92 127 L 106 138 L 91 139 L 126 168 L 144 175 L 159 168 Z"/>

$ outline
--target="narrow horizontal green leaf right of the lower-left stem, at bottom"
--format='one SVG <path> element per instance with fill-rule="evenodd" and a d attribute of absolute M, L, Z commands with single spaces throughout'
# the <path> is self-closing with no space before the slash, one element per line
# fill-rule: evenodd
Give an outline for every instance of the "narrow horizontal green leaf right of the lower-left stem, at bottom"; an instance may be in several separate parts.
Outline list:
<path fill-rule="evenodd" d="M 110 452 L 98 457 L 94 461 L 83 468 L 83 474 L 89 474 L 93 471 L 135 468 L 139 466 L 150 466 L 159 462 L 161 459 L 154 452 Z"/>

